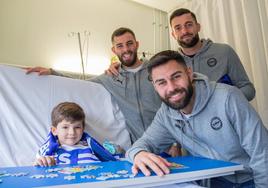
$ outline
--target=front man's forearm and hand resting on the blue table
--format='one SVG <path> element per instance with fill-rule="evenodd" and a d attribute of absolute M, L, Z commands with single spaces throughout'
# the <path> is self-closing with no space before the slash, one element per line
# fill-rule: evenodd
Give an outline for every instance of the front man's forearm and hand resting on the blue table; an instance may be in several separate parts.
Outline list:
<path fill-rule="evenodd" d="M 133 162 L 132 172 L 134 174 L 141 170 L 146 176 L 150 175 L 148 169 L 153 170 L 159 176 L 169 173 L 167 169 L 170 163 L 155 155 L 175 142 L 164 126 L 162 116 L 165 115 L 162 114 L 160 108 L 143 136 L 126 152 L 128 160 Z"/>

